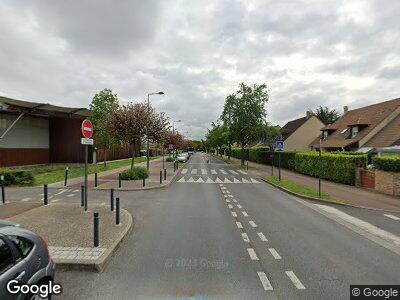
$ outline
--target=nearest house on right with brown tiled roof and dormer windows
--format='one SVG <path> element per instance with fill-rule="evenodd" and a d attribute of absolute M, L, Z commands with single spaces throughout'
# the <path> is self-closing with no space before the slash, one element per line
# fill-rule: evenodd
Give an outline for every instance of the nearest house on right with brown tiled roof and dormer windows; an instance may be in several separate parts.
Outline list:
<path fill-rule="evenodd" d="M 363 151 L 400 145 L 400 98 L 349 110 L 321 129 L 322 150 Z M 319 149 L 319 138 L 311 143 Z"/>

